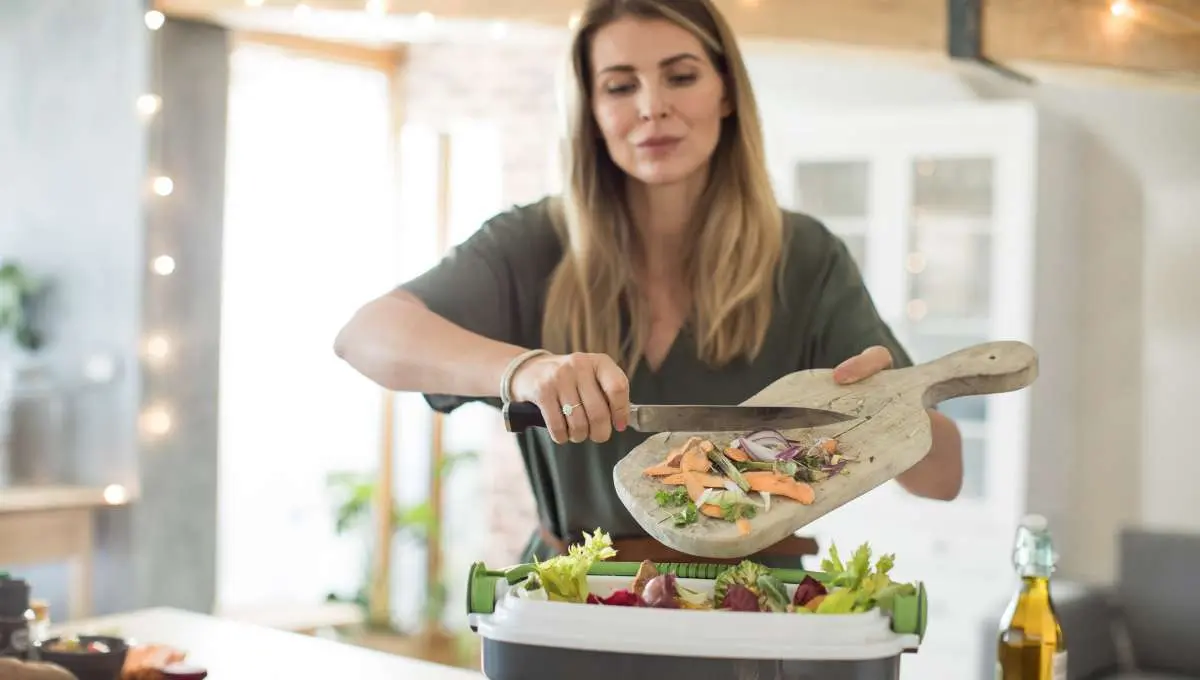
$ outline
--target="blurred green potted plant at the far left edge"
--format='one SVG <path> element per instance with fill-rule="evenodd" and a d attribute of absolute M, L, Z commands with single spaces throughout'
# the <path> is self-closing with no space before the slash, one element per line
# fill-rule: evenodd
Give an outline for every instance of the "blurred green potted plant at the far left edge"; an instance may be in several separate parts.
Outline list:
<path fill-rule="evenodd" d="M 32 324 L 34 296 L 41 290 L 17 261 L 0 263 L 0 487 L 8 485 L 12 407 L 23 355 L 42 345 Z"/>

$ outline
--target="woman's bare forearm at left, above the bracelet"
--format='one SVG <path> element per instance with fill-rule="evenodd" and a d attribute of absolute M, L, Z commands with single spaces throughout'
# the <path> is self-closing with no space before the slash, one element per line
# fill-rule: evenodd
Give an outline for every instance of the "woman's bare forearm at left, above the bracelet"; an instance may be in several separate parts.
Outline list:
<path fill-rule="evenodd" d="M 524 349 L 473 333 L 396 291 L 355 312 L 337 333 L 334 351 L 397 392 L 494 397 L 504 368 Z"/>

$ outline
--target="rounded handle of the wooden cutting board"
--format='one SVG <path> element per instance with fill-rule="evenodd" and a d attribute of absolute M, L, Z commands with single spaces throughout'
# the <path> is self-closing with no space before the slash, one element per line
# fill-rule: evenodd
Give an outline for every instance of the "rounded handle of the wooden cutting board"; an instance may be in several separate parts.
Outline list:
<path fill-rule="evenodd" d="M 1038 377 L 1038 354 L 1022 342 L 997 341 L 960 349 L 918 366 L 901 368 L 918 389 L 925 408 L 947 399 L 1013 392 Z"/>

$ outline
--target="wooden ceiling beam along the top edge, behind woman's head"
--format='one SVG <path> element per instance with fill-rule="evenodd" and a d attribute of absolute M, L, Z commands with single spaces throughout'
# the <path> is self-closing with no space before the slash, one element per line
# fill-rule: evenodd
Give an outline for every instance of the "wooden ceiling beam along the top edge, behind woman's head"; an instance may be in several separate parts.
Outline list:
<path fill-rule="evenodd" d="M 947 0 L 714 0 L 739 36 L 946 53 Z M 1147 73 L 1200 73 L 1200 2 L 985 0 L 984 52 L 994 60 Z M 155 0 L 168 14 L 245 11 L 244 0 Z M 269 2 L 292 6 L 292 2 Z M 361 0 L 307 0 L 313 10 L 364 11 Z M 566 26 L 581 0 L 391 0 L 392 14 Z"/>

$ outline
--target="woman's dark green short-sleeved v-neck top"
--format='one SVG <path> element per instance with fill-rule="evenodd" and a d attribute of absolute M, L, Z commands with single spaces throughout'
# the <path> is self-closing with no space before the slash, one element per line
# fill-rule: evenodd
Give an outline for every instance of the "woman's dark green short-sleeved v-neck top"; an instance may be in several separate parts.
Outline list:
<path fill-rule="evenodd" d="M 526 348 L 542 347 L 550 276 L 563 257 L 550 210 L 547 197 L 497 215 L 400 288 L 463 329 Z M 871 345 L 888 348 L 895 367 L 912 365 L 876 311 L 841 239 L 817 219 L 786 210 L 784 235 L 779 265 L 784 271 L 775 278 L 773 317 L 758 356 L 712 368 L 700 360 L 685 323 L 658 368 L 643 361 L 634 372 L 631 402 L 738 404 L 787 373 L 833 368 Z M 499 398 L 425 398 L 442 413 L 469 401 L 500 405 Z M 617 497 L 612 469 L 649 434 L 626 428 L 602 444 L 554 444 L 541 428 L 515 437 L 544 529 L 559 537 L 596 528 L 614 538 L 646 536 Z M 552 554 L 534 535 L 522 559 Z"/>

